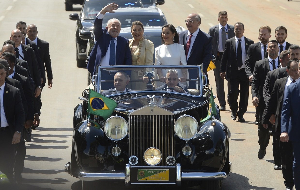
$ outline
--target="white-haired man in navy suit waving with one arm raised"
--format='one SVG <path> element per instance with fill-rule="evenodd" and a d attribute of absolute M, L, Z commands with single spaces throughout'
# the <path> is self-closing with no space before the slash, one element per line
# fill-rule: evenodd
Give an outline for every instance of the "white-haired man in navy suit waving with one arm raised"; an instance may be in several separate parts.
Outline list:
<path fill-rule="evenodd" d="M 114 13 L 119 5 L 111 3 L 106 5 L 96 16 L 94 23 L 95 45 L 90 54 L 87 69 L 93 75 L 96 72 L 96 65 L 131 65 L 131 51 L 129 49 L 128 39 L 119 36 L 121 31 L 121 22 L 118 19 L 107 21 L 106 28 L 102 28 L 105 13 Z M 116 71 L 101 71 L 101 78 L 113 80 Z M 113 87 L 112 84 L 104 84 L 105 88 Z"/>

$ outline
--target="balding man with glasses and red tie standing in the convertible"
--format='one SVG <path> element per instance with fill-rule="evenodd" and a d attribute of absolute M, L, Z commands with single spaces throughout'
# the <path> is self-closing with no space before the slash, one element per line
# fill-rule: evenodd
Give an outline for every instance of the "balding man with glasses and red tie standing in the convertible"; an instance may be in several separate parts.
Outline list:
<path fill-rule="evenodd" d="M 187 65 L 202 64 L 202 71 L 207 76 L 207 68 L 211 61 L 212 37 L 199 29 L 201 24 L 199 14 L 189 14 L 185 23 L 187 30 L 179 33 L 179 44 L 184 45 Z M 198 73 L 195 69 L 189 69 L 190 79 L 197 76 Z M 195 89 L 196 83 L 190 82 L 189 86 Z"/>

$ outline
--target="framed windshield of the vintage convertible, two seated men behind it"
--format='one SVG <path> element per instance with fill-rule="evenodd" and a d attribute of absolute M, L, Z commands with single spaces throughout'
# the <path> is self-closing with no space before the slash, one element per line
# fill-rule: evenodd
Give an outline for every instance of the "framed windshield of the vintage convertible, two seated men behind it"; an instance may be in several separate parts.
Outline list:
<path fill-rule="evenodd" d="M 201 96 L 203 84 L 200 71 L 200 66 L 192 65 L 99 66 L 97 75 L 94 77 L 98 81 L 95 84 L 96 90 L 103 95 L 137 91 L 166 91 Z M 183 77 L 184 73 L 187 73 L 186 78 Z M 165 82 L 161 82 L 163 80 L 159 79 L 158 74 L 165 77 L 163 79 Z"/>

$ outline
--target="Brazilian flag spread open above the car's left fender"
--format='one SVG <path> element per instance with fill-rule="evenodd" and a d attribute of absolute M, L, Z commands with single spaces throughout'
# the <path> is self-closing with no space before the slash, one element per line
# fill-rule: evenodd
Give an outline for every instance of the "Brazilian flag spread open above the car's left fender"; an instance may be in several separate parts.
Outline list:
<path fill-rule="evenodd" d="M 101 116 L 106 120 L 111 116 L 117 105 L 113 99 L 107 98 L 91 90 L 91 88 L 89 89 L 87 112 L 90 114 Z"/>

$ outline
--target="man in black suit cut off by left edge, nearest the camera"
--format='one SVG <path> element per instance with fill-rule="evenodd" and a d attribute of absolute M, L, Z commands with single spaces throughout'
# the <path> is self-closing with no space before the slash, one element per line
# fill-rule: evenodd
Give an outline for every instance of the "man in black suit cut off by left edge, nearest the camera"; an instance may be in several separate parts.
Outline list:
<path fill-rule="evenodd" d="M 0 64 L 0 171 L 13 182 L 15 144 L 21 140 L 25 113 L 20 90 L 5 83 L 6 71 Z"/>

